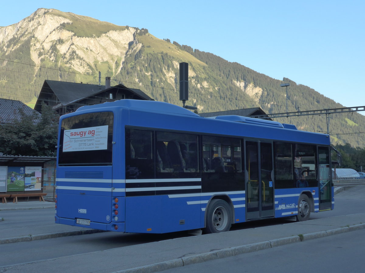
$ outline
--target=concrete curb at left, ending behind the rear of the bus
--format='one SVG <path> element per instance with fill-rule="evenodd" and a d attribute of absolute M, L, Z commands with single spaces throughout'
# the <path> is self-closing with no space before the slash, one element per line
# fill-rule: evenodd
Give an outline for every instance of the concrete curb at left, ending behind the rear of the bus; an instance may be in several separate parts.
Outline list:
<path fill-rule="evenodd" d="M 28 235 L 28 236 L 20 236 L 20 237 L 12 237 L 12 238 L 3 238 L 3 239 L 0 239 L 0 245 L 17 243 L 17 242 L 29 242 L 29 241 L 58 238 L 58 237 L 66 237 L 66 236 L 92 234 L 92 233 L 99 233 L 99 232 L 105 232 L 105 230 L 80 229 L 80 230 L 73 230 L 73 231 L 48 233 L 48 234 L 37 234 L 37 235 Z"/>

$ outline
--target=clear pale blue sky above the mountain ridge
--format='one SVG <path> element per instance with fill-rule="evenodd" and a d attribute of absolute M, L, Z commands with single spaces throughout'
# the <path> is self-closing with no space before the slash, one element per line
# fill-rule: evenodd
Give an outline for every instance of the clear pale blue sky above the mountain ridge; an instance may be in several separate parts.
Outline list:
<path fill-rule="evenodd" d="M 37 8 L 147 28 L 160 39 L 307 85 L 343 106 L 365 105 L 364 0 L 2 1 L 0 26 Z"/>

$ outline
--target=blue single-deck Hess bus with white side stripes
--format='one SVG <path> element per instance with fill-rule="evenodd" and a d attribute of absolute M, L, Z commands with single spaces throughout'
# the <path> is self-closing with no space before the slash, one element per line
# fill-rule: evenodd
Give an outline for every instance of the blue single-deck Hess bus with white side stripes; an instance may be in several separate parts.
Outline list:
<path fill-rule="evenodd" d="M 334 207 L 329 135 L 291 124 L 122 99 L 61 116 L 57 147 L 65 225 L 218 233 Z"/>

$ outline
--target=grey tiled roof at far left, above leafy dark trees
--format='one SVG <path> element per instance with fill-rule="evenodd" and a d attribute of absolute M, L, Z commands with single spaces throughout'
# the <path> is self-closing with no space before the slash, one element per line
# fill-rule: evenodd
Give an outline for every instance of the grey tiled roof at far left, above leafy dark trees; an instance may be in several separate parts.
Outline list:
<path fill-rule="evenodd" d="M 39 113 L 34 111 L 31 107 L 20 102 L 19 100 L 0 99 L 0 123 L 12 123 L 14 119 L 20 119 L 19 108 L 23 110 L 24 114 L 32 115 Z"/>

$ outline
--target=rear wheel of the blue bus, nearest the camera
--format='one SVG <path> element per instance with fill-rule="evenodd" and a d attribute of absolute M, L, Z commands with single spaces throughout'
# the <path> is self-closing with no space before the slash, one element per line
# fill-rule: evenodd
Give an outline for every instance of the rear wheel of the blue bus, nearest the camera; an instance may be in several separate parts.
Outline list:
<path fill-rule="evenodd" d="M 222 199 L 213 199 L 205 217 L 205 233 L 219 233 L 230 230 L 232 223 L 232 209 Z"/>

